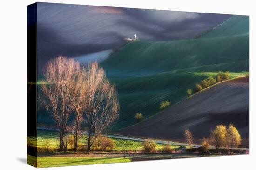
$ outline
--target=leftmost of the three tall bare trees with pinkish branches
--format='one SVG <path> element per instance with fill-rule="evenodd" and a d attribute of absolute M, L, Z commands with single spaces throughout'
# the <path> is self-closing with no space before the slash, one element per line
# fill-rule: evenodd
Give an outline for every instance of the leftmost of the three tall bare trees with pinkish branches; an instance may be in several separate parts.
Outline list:
<path fill-rule="evenodd" d="M 67 120 L 73 111 L 72 85 L 80 71 L 80 64 L 74 59 L 59 56 L 50 60 L 43 70 L 45 77 L 41 90 L 44 94 L 43 103 L 52 114 L 59 128 L 60 151 L 67 150 L 64 143 L 64 135 L 67 130 Z"/>

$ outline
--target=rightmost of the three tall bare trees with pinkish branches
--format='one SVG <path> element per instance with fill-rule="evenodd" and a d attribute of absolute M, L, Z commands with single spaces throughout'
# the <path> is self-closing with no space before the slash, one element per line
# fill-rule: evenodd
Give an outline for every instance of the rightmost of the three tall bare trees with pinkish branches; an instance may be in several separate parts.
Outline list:
<path fill-rule="evenodd" d="M 88 64 L 86 84 L 83 113 L 88 124 L 89 152 L 94 140 L 118 118 L 119 103 L 115 86 L 108 82 L 104 70 L 97 63 Z"/>

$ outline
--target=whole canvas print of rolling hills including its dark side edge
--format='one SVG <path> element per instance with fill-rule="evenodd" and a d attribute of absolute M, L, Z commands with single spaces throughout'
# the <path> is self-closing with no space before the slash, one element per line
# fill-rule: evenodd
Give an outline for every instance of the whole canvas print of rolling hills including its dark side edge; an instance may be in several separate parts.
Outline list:
<path fill-rule="evenodd" d="M 27 6 L 27 164 L 249 154 L 249 16 Z"/>

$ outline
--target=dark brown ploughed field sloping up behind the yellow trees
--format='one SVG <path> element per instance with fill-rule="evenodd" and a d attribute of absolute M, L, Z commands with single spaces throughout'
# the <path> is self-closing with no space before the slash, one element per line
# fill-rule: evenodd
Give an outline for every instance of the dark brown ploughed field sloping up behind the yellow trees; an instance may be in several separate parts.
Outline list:
<path fill-rule="evenodd" d="M 230 123 L 243 139 L 249 138 L 249 76 L 215 85 L 117 133 L 184 142 L 183 132 L 190 129 L 198 141 L 216 125 Z"/>

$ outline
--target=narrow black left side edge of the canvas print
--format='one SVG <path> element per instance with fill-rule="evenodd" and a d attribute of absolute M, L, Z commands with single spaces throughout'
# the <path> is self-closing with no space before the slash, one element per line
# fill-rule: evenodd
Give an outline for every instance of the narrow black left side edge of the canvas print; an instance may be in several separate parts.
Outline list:
<path fill-rule="evenodd" d="M 36 167 L 36 143 L 28 137 L 37 137 L 37 3 L 27 6 L 27 164 Z"/>

